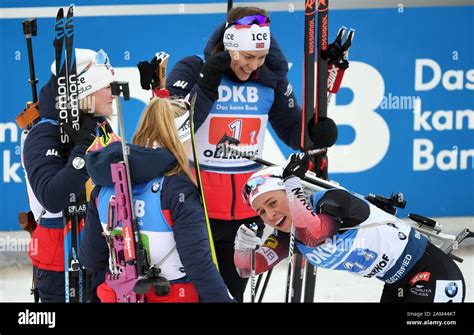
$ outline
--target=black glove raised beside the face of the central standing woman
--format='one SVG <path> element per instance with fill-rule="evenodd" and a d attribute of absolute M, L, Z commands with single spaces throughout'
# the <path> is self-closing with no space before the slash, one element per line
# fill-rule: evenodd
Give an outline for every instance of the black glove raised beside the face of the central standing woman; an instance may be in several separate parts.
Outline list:
<path fill-rule="evenodd" d="M 230 61 L 229 52 L 221 51 L 210 57 L 201 67 L 197 84 L 211 100 L 219 98 L 217 89 L 223 73 L 230 67 Z"/>

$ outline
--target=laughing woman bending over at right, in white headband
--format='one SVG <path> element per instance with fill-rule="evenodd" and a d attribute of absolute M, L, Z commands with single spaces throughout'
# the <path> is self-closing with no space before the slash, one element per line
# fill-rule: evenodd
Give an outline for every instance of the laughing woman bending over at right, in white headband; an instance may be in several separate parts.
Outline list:
<path fill-rule="evenodd" d="M 311 264 L 385 282 L 381 302 L 462 302 L 464 278 L 454 261 L 420 232 L 348 191 L 306 194 L 301 179 L 309 158 L 293 154 L 285 168 L 254 173 L 244 185 L 244 202 L 275 231 L 263 243 L 241 225 L 235 237 L 235 266 L 250 275 L 273 268 L 289 254 L 295 228 L 295 252 Z"/>

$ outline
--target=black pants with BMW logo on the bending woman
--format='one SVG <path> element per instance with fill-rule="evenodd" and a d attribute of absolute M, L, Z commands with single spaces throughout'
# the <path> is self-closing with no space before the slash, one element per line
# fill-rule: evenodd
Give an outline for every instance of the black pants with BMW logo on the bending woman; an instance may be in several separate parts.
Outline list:
<path fill-rule="evenodd" d="M 399 282 L 385 284 L 380 302 L 462 302 L 466 285 L 459 267 L 428 243 L 413 269 Z"/>

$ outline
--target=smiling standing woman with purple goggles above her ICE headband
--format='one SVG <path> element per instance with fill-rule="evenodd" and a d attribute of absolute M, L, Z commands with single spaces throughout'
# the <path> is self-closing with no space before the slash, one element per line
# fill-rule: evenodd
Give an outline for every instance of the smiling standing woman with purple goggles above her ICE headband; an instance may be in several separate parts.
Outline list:
<path fill-rule="evenodd" d="M 153 76 L 149 65 L 139 64 L 142 81 Z M 301 108 L 287 75 L 288 62 L 271 35 L 268 13 L 235 7 L 209 38 L 204 57 L 180 60 L 167 79 L 172 96 L 197 93 L 194 123 L 212 235 L 220 272 L 238 301 L 243 300 L 247 279 L 233 265 L 234 236 L 242 223 L 258 220 L 255 211 L 241 202 L 240 190 L 259 166 L 219 151 L 216 144 L 228 135 L 237 138 L 247 153 L 261 157 L 270 123 L 284 143 L 299 150 Z M 337 128 L 331 119 L 323 118 L 317 125 L 310 120 L 308 127 L 316 147 L 336 142 Z"/>

